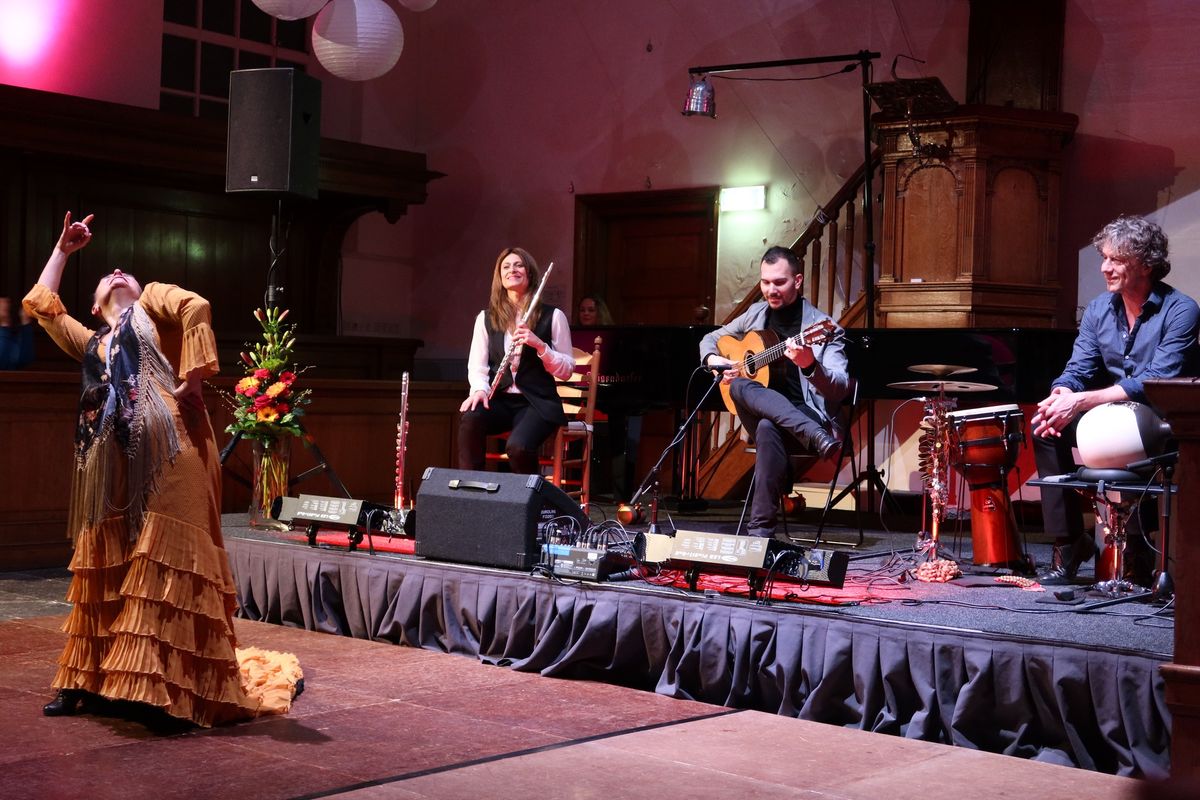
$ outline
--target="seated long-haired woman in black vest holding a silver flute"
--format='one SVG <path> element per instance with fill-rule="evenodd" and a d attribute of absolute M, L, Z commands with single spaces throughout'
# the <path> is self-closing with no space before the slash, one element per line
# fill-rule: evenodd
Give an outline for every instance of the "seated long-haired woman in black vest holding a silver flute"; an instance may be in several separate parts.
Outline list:
<path fill-rule="evenodd" d="M 512 471 L 536 473 L 539 447 L 566 423 L 554 379 L 575 369 L 571 331 L 566 314 L 539 302 L 541 285 L 533 255 L 520 247 L 500 251 L 467 359 L 470 395 L 458 409 L 460 469 L 484 469 L 487 437 L 509 432 Z"/>

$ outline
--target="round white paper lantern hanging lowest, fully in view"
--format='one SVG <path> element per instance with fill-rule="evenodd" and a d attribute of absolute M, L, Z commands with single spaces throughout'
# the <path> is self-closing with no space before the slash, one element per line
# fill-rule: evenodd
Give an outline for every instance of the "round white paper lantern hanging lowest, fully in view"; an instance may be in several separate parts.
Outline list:
<path fill-rule="evenodd" d="M 317 14 L 312 50 L 346 80 L 371 80 L 391 70 L 404 49 L 400 17 L 383 0 L 332 0 Z"/>

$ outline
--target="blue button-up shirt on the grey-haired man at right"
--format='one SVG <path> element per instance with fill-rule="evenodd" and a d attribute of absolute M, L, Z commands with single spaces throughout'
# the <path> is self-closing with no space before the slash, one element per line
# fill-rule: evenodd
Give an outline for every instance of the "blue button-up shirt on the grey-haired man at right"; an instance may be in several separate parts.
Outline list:
<path fill-rule="evenodd" d="M 1120 384 L 1129 399 L 1146 403 L 1142 381 L 1200 374 L 1200 307 L 1159 281 L 1151 289 L 1133 330 L 1118 293 L 1087 303 L 1070 361 L 1051 386 L 1073 391 Z"/>

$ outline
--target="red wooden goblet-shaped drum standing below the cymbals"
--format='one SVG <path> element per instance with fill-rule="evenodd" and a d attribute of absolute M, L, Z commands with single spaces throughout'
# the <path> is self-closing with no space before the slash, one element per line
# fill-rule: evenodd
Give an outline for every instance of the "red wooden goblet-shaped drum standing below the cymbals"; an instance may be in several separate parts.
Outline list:
<path fill-rule="evenodd" d="M 1025 444 L 1025 415 L 1012 404 L 952 411 L 946 419 L 955 443 L 952 461 L 971 489 L 972 563 L 1022 563 L 1016 518 L 1008 499 L 1008 473 Z"/>

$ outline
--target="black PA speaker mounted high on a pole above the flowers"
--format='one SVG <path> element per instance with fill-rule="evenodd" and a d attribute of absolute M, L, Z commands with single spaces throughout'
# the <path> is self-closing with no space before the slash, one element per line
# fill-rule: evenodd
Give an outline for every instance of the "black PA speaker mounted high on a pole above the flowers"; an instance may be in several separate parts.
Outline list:
<path fill-rule="evenodd" d="M 226 192 L 317 197 L 320 82 L 292 68 L 229 73 Z"/>

